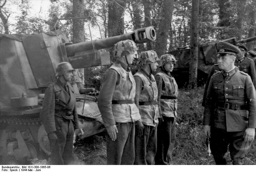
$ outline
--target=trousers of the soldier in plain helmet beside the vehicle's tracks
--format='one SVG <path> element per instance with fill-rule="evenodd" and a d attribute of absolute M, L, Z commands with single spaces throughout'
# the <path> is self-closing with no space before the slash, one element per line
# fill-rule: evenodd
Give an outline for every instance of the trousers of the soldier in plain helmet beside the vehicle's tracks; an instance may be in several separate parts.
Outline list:
<path fill-rule="evenodd" d="M 72 120 L 55 116 L 56 135 L 58 139 L 50 141 L 51 165 L 68 165 L 74 163 Z"/>

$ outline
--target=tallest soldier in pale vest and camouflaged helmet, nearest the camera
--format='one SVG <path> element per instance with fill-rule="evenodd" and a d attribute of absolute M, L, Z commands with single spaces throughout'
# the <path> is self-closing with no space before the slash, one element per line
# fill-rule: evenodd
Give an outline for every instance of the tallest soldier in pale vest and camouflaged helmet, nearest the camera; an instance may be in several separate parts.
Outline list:
<path fill-rule="evenodd" d="M 134 162 L 135 123 L 142 125 L 139 109 L 134 103 L 135 80 L 129 68 L 136 50 L 132 40 L 115 44 L 116 63 L 106 71 L 98 96 L 98 106 L 108 133 L 108 165 L 132 165 Z"/>

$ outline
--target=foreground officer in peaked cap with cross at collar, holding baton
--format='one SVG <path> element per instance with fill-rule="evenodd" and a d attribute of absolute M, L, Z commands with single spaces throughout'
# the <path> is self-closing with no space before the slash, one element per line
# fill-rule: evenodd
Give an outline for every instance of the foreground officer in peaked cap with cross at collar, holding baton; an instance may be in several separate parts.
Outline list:
<path fill-rule="evenodd" d="M 210 136 L 217 165 L 227 164 L 228 145 L 233 164 L 243 164 L 255 135 L 256 93 L 251 77 L 235 68 L 240 50 L 226 42 L 219 42 L 217 49 L 222 71 L 212 75 L 207 90 L 204 134 Z"/>

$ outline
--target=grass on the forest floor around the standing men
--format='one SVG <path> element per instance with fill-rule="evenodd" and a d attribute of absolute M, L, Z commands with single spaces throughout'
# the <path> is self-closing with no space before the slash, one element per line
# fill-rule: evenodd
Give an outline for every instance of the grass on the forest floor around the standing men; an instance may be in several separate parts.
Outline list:
<path fill-rule="evenodd" d="M 179 90 L 178 117 L 176 118 L 176 142 L 173 149 L 173 165 L 214 165 L 209 157 L 202 132 L 204 107 L 201 105 L 203 87 L 194 90 Z M 106 133 L 85 138 L 76 144 L 76 164 L 106 164 Z M 256 143 L 246 154 L 245 163 L 256 165 Z M 232 164 L 229 153 L 226 154 Z"/>

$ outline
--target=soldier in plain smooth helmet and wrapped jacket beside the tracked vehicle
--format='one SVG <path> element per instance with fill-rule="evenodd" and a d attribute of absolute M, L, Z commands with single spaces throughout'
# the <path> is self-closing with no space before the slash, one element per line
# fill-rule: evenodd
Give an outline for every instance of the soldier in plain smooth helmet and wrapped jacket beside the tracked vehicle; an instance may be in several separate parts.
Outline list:
<path fill-rule="evenodd" d="M 59 63 L 55 75 L 57 80 L 48 86 L 44 94 L 40 118 L 50 141 L 52 165 L 74 162 L 73 137 L 78 128 L 78 117 L 74 90 L 68 83 L 73 70 L 70 63 Z"/>

